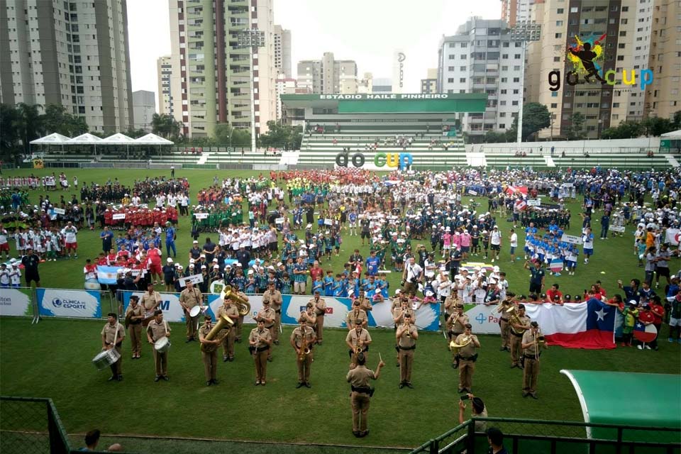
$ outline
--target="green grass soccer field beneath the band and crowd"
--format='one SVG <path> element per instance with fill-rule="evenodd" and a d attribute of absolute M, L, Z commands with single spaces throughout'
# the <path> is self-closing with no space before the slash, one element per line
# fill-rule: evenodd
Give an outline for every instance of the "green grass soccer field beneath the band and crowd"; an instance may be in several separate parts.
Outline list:
<path fill-rule="evenodd" d="M 123 183 L 131 184 L 135 178 L 165 173 L 162 170 L 126 170 L 120 173 L 89 169 L 65 171 L 70 180 L 77 175 L 81 184 L 91 181 L 103 184 L 108 177 L 114 176 Z M 4 170 L 3 173 L 4 176 L 45 175 L 51 174 L 52 170 Z M 248 177 L 258 173 L 176 171 L 178 177 L 189 179 L 194 201 L 199 189 L 208 187 L 214 175 L 220 178 Z M 43 192 L 31 192 L 31 202 L 36 203 L 39 194 Z M 62 194 L 70 200 L 68 192 L 60 191 L 50 192 L 50 199 L 58 200 Z M 486 199 L 477 201 L 482 204 L 480 209 L 486 210 Z M 570 209 L 572 226 L 568 233 L 577 235 L 581 227 L 579 203 L 572 202 Z M 594 216 L 594 223 L 598 217 Z M 507 237 L 511 225 L 501 218 L 497 223 Z M 187 251 L 192 242 L 188 219 L 180 218 L 179 226 L 177 260 L 187 265 Z M 598 229 L 594 230 L 598 233 Z M 301 232 L 298 233 L 300 236 Z M 201 244 L 205 236 L 201 234 Z M 99 231 L 80 232 L 78 243 L 77 260 L 40 265 L 44 287 L 82 289 L 84 260 L 94 259 L 101 249 Z M 522 260 L 511 264 L 507 241 L 505 243 L 499 266 L 506 271 L 510 290 L 526 293 L 528 272 L 522 269 Z M 429 246 L 429 243 L 424 244 Z M 355 247 L 362 255 L 368 255 L 368 245 L 362 247 L 359 237 L 345 236 L 341 257 L 324 262 L 323 268 L 342 270 L 344 260 Z M 678 267 L 678 259 L 672 259 L 672 271 Z M 575 276 L 547 275 L 546 284 L 550 287 L 553 282 L 558 282 L 563 293 L 581 294 L 600 279 L 611 295 L 617 293 L 617 279 L 629 282 L 633 277 L 642 279 L 643 269 L 637 267 L 631 228 L 628 227 L 623 238 L 596 240 L 594 257 L 589 265 L 583 265 L 580 260 Z M 389 275 L 389 283 L 393 292 L 399 286 L 399 276 L 396 273 Z M 349 387 L 345 382 L 348 352 L 344 330 L 329 329 L 324 345 L 316 348 L 311 378 L 313 387 L 295 389 L 294 353 L 285 342 L 275 347 L 275 360 L 267 368 L 266 387 L 253 386 L 253 361 L 243 343 L 237 345 L 235 362 L 218 366 L 220 384 L 206 387 L 198 345 L 184 343 L 184 325 L 180 324 L 172 324 L 174 343 L 170 351 L 170 382 L 153 382 L 150 345 L 143 346 L 142 359 L 131 360 L 127 342 L 123 344 L 123 382 L 106 382 L 109 371 L 96 372 L 90 364 L 101 345 L 99 331 L 102 326 L 104 320 L 43 319 L 38 325 L 31 326 L 27 319 L 0 319 L 0 394 L 51 397 L 69 433 L 82 433 L 99 427 L 109 435 L 415 447 L 458 423 L 458 375 L 450 367 L 450 353 L 442 333 L 421 335 L 414 360 L 415 389 L 398 389 L 399 369 L 395 367 L 393 331 L 372 329 L 374 343 L 368 365 L 375 367 L 377 353 L 380 352 L 387 367 L 376 383 L 377 392 L 371 403 L 370 436 L 358 439 L 351 433 Z M 542 356 L 538 386 L 540 399 L 536 401 L 521 397 L 522 372 L 509 369 L 509 353 L 499 352 L 498 336 L 480 336 L 482 348 L 476 363 L 473 392 L 485 400 L 489 416 L 581 420 L 575 392 L 567 378 L 560 375 L 560 369 L 677 374 L 681 370 L 681 345 L 666 342 L 667 329 L 663 326 L 658 352 L 634 348 L 550 348 Z M 290 327 L 284 327 L 284 339 L 290 332 Z M 631 390 L 605 384 L 604 392 Z"/>

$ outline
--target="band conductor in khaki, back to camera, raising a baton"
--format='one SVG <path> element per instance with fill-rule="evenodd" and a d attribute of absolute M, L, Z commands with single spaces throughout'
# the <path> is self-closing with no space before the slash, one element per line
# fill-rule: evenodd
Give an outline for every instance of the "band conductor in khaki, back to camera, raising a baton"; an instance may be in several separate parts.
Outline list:
<path fill-rule="evenodd" d="M 364 437 L 369 435 L 367 425 L 369 423 L 369 405 L 373 389 L 369 386 L 370 380 L 378 380 L 381 375 L 381 367 L 385 362 L 381 361 L 376 367 L 376 372 L 367 369 L 364 353 L 357 355 L 357 367 L 348 371 L 345 380 L 350 383 L 350 407 L 353 409 L 353 435 Z M 360 414 L 362 415 L 360 419 Z"/>

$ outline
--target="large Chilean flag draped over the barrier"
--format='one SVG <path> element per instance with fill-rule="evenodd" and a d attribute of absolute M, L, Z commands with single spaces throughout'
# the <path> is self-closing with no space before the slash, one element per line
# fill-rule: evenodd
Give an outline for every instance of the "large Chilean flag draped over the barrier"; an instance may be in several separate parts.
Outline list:
<path fill-rule="evenodd" d="M 592 298 L 585 303 L 526 304 L 526 314 L 539 323 L 546 343 L 566 348 L 615 348 L 617 308 Z"/>

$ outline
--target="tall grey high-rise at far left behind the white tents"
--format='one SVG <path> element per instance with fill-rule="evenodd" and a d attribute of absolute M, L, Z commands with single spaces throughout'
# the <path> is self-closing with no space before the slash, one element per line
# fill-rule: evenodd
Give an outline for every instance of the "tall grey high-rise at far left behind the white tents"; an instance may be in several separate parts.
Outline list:
<path fill-rule="evenodd" d="M 60 104 L 100 133 L 130 128 L 126 0 L 1 1 L 0 102 Z"/>

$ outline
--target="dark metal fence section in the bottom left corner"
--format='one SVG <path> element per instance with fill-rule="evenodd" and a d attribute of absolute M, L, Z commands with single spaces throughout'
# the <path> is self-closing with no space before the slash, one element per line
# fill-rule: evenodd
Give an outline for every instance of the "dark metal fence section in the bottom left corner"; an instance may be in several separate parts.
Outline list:
<path fill-rule="evenodd" d="M 104 453 L 92 451 L 91 453 Z M 0 397 L 0 453 L 75 454 L 52 399 Z"/>

